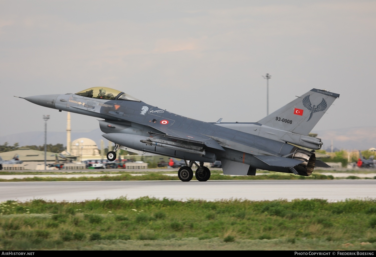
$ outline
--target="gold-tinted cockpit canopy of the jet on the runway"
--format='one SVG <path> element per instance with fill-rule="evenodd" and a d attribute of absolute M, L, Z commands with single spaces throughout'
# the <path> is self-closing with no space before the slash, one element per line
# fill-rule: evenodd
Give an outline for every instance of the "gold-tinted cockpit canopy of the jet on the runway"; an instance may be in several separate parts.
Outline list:
<path fill-rule="evenodd" d="M 83 91 L 76 93 L 76 95 L 80 95 L 83 97 L 90 97 L 90 98 L 97 98 L 97 99 L 106 99 L 106 100 L 129 100 L 129 101 L 137 101 L 141 102 L 132 95 L 128 95 L 124 92 L 120 92 L 118 90 L 112 88 L 103 88 L 97 86 L 95 88 L 88 88 Z"/>

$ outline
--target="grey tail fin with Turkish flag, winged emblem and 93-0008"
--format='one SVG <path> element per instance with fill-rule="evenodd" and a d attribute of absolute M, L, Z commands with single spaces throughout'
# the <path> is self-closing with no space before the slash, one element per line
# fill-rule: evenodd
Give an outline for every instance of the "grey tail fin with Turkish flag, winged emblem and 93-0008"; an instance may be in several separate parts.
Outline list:
<path fill-rule="evenodd" d="M 307 136 L 337 97 L 340 95 L 314 88 L 258 123 Z"/>

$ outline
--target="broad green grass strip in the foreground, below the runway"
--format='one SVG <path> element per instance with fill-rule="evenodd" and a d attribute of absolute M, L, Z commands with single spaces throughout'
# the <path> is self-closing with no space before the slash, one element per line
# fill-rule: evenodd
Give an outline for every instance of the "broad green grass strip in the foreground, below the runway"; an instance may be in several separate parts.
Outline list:
<path fill-rule="evenodd" d="M 140 242 L 157 247 L 150 249 L 197 249 L 189 245 L 192 241 L 202 249 L 210 249 L 208 242 L 224 249 L 376 249 L 376 200 L 183 202 L 143 197 L 7 201 L 0 210 L 3 250 L 133 249 Z"/>

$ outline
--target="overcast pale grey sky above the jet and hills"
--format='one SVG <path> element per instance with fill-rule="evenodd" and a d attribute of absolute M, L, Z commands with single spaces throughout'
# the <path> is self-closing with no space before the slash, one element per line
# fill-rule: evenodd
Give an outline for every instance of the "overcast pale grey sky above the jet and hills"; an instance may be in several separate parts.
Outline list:
<path fill-rule="evenodd" d="M 114 88 L 207 122 L 256 122 L 312 88 L 340 94 L 314 130 L 376 126 L 375 1 L 0 2 L 0 136 L 64 132 L 16 96 Z M 72 131 L 96 118 L 72 113 Z M 3 142 L 0 142 L 1 144 Z M 42 144 L 42 142 L 41 142 Z"/>

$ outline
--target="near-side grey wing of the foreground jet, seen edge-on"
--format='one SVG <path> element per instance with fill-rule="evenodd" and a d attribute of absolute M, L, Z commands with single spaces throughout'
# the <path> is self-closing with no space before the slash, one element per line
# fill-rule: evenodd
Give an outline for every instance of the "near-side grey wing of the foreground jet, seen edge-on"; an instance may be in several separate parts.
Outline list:
<path fill-rule="evenodd" d="M 150 126 L 152 127 L 152 126 Z M 171 139 L 177 139 L 177 140 L 182 140 L 190 143 L 196 143 L 196 144 L 203 144 L 208 148 L 214 148 L 217 150 L 225 151 L 223 147 L 218 144 L 217 141 L 215 141 L 213 138 L 210 138 L 205 135 L 201 135 L 199 133 L 191 133 L 187 132 L 185 130 L 179 130 L 179 129 L 173 129 L 171 127 L 162 127 L 162 126 L 157 126 L 154 127 L 155 129 L 158 129 L 159 131 L 165 133 L 164 134 L 158 134 L 158 133 L 152 133 L 149 132 L 150 135 L 156 135 L 156 136 L 161 136 L 164 138 L 171 138 Z"/>

